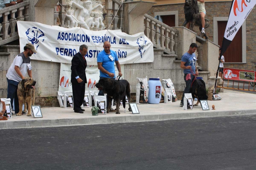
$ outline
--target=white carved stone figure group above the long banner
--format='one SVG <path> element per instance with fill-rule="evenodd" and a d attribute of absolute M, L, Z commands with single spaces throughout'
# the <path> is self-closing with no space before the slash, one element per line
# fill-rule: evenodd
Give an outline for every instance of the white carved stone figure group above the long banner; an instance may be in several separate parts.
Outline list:
<path fill-rule="evenodd" d="M 99 10 L 102 11 L 102 9 L 103 6 L 99 4 L 98 1 L 92 4 L 90 0 L 67 0 L 67 28 L 73 28 L 76 27 L 76 25 L 80 25 L 81 28 L 90 30 L 91 27 L 96 26 L 94 21 L 95 17 L 94 15 L 91 15 L 91 13 L 93 10 L 97 10 L 98 12 Z M 99 25 L 101 26 L 103 24 L 102 20 L 98 18 L 96 18 L 96 22 L 100 23 Z"/>

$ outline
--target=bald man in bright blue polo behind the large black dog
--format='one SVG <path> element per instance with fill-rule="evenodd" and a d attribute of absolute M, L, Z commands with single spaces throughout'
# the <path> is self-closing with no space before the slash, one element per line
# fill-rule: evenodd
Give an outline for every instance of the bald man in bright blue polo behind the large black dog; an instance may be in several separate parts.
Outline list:
<path fill-rule="evenodd" d="M 103 48 L 104 50 L 101 51 L 97 56 L 98 68 L 99 68 L 99 79 L 102 78 L 111 78 L 114 79 L 115 76 L 115 65 L 118 70 L 118 75 L 122 77 L 121 67 L 116 55 L 115 51 L 110 49 L 111 45 L 110 42 L 105 41 Z M 104 96 L 103 91 L 99 91 L 99 96 Z"/>

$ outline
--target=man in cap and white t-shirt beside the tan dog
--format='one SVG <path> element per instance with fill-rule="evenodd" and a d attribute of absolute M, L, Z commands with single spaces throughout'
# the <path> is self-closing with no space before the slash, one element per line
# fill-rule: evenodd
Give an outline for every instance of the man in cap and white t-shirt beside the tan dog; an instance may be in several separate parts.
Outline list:
<path fill-rule="evenodd" d="M 6 74 L 8 82 L 7 98 L 11 99 L 11 105 L 14 99 L 15 114 L 19 113 L 19 99 L 17 96 L 18 84 L 22 79 L 25 78 L 26 73 L 28 73 L 29 77 L 32 78 L 30 57 L 34 53 L 37 53 L 34 45 L 27 43 L 24 47 L 24 51 L 15 57 Z"/>

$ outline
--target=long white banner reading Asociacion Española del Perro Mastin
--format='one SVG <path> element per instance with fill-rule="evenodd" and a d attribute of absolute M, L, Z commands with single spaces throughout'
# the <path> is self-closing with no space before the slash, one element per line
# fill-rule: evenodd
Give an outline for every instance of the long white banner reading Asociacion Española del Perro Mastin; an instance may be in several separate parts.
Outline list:
<path fill-rule="evenodd" d="M 63 28 L 42 23 L 17 21 L 20 51 L 26 43 L 32 43 L 38 53 L 31 59 L 71 63 L 79 52 L 79 46 L 88 46 L 87 65 L 97 65 L 97 54 L 103 50 L 105 41 L 111 42 L 120 64 L 153 62 L 153 43 L 143 32 L 128 35 L 120 30 L 90 31 L 84 28 Z"/>

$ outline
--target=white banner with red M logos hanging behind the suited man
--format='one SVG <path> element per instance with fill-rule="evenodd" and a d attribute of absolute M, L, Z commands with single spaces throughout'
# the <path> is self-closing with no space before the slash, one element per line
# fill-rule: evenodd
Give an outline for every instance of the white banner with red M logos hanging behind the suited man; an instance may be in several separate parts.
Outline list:
<path fill-rule="evenodd" d="M 124 79 L 124 65 L 121 66 L 122 77 L 120 79 Z M 116 75 L 118 75 L 118 70 L 115 65 Z M 95 87 L 95 84 L 99 82 L 99 69 L 98 65 L 87 65 L 85 70 L 87 84 L 85 84 L 85 90 L 98 90 Z M 61 71 L 60 71 L 60 83 L 58 91 L 72 91 L 72 83 L 71 80 L 71 64 L 61 63 Z"/>

